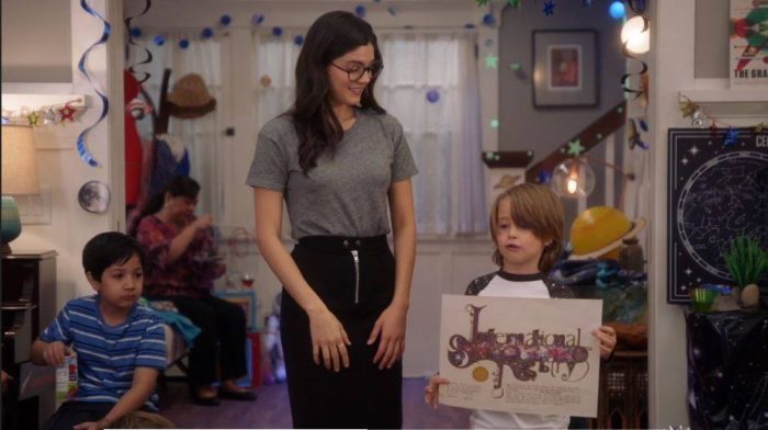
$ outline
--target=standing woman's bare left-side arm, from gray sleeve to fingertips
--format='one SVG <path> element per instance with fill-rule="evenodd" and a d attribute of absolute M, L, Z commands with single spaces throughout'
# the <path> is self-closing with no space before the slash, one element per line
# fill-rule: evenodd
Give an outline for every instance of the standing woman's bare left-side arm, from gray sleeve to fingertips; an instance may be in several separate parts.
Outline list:
<path fill-rule="evenodd" d="M 312 290 L 280 240 L 283 193 L 257 186 L 253 189 L 253 204 L 256 205 L 256 242 L 272 272 L 309 317 L 315 363 L 320 363 L 321 353 L 326 369 L 332 366 L 338 372 L 340 364 L 349 367 L 347 346 L 352 343 L 347 332 L 317 293 Z"/>

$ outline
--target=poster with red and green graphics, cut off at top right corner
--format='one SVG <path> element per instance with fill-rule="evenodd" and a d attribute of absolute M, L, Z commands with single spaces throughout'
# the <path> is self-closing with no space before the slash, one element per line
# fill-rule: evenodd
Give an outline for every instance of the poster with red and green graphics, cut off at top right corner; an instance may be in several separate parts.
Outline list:
<path fill-rule="evenodd" d="M 768 84 L 768 0 L 731 0 L 731 86 Z"/>

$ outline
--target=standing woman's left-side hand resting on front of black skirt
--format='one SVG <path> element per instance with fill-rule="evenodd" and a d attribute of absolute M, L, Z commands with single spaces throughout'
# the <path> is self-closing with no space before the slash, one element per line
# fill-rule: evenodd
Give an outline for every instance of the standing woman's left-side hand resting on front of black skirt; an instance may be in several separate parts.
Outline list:
<path fill-rule="evenodd" d="M 309 316 L 309 332 L 312 333 L 312 357 L 315 364 L 320 364 L 320 353 L 326 369 L 338 372 L 341 365 L 349 367 L 347 347 L 352 344 L 347 331 L 339 320 L 328 309 L 307 313 Z"/>

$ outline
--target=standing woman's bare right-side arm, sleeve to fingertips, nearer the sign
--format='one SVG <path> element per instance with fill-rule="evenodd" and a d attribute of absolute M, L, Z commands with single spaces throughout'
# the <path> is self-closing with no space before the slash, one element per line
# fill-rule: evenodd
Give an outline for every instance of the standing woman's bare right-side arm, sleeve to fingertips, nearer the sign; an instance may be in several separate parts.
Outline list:
<path fill-rule="evenodd" d="M 395 295 L 371 330 L 368 343 L 381 335 L 373 362 L 380 369 L 392 367 L 405 351 L 405 324 L 410 304 L 410 280 L 416 259 L 416 214 L 410 179 L 395 182 L 389 188 L 389 212 L 395 239 Z"/>

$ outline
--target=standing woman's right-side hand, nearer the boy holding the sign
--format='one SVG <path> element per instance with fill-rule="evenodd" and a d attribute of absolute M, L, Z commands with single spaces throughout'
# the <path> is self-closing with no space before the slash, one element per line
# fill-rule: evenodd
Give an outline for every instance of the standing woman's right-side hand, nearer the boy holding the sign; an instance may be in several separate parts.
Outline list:
<path fill-rule="evenodd" d="M 368 338 L 368 344 L 373 344 L 381 335 L 379 350 L 373 358 L 373 363 L 379 364 L 380 370 L 392 367 L 403 357 L 407 310 L 406 307 L 391 304 L 379 316 L 376 324 L 373 325 L 371 336 Z"/>

